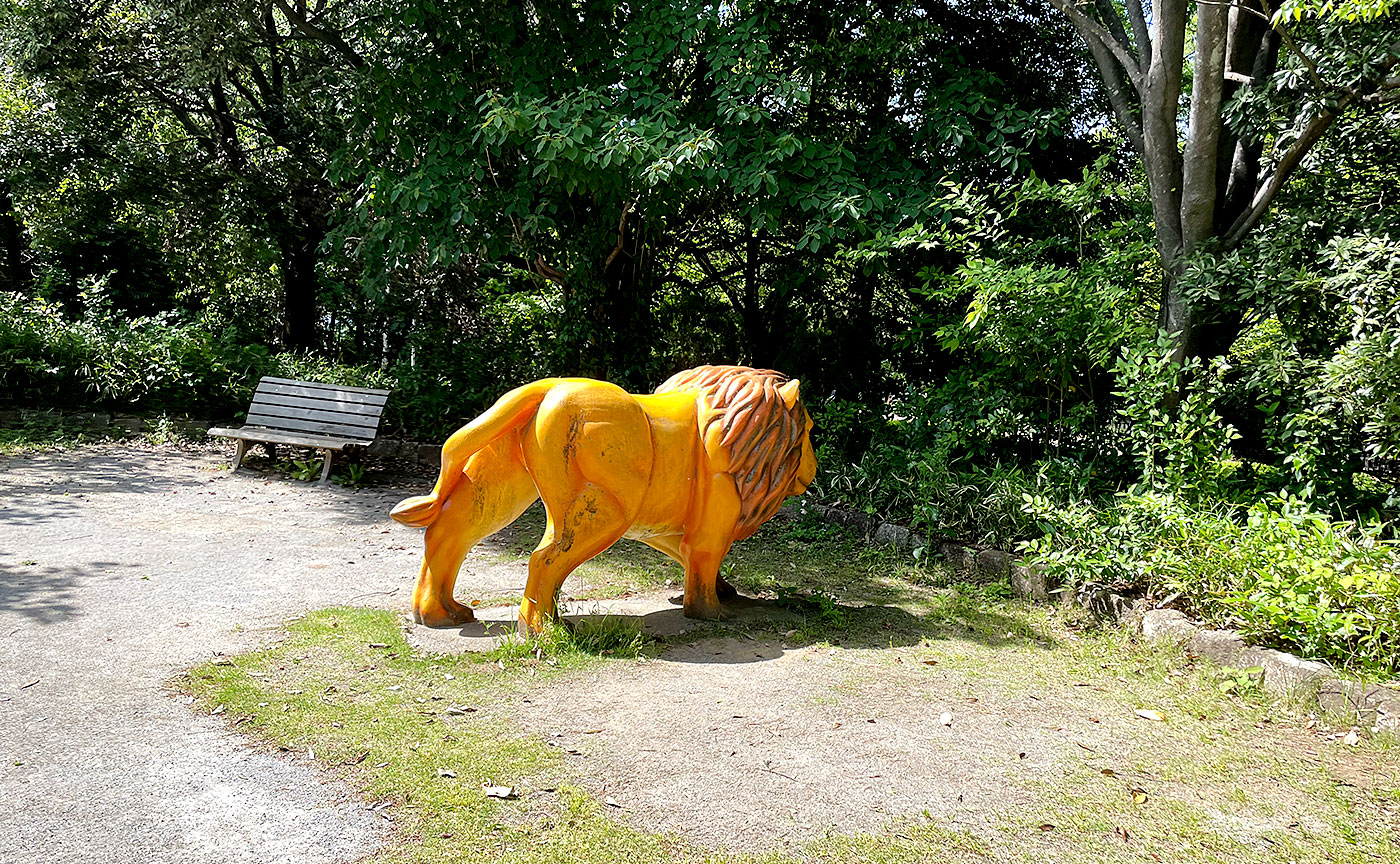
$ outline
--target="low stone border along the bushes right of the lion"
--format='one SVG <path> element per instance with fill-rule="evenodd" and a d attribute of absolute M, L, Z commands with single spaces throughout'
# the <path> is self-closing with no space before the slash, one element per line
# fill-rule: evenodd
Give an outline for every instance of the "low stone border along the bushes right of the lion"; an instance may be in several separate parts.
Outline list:
<path fill-rule="evenodd" d="M 899 552 L 928 548 L 928 538 L 902 525 L 882 522 L 876 517 L 829 507 L 813 501 L 798 501 L 784 507 L 791 518 L 816 514 L 818 518 L 855 531 L 867 542 L 890 546 Z M 969 581 L 1007 578 L 1011 591 L 1022 599 L 1047 602 L 1053 585 L 1036 567 L 1018 563 L 1019 559 L 1000 549 L 938 543 L 938 556 Z M 1316 695 L 1323 711 L 1344 711 L 1355 717 L 1358 725 L 1400 731 L 1400 690 L 1376 685 L 1344 681 L 1324 662 L 1303 660 L 1287 651 L 1250 646 L 1245 637 L 1231 630 L 1211 630 L 1191 622 L 1180 609 L 1147 609 L 1144 601 L 1135 604 L 1107 591 L 1079 591 L 1067 594 L 1064 602 L 1078 604 L 1100 618 L 1127 623 L 1152 641 L 1170 641 L 1184 651 L 1204 657 L 1217 665 L 1263 669 L 1261 686 L 1278 696 Z"/>

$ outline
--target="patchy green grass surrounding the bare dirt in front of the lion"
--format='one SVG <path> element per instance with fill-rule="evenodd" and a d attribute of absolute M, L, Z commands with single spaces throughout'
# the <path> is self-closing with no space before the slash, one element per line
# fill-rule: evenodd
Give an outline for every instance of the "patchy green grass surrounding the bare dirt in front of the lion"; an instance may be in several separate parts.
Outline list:
<path fill-rule="evenodd" d="M 1389 737 L 1364 734 L 1345 746 L 1331 738 L 1340 730 L 1296 706 L 1249 688 L 1222 692 L 1219 669 L 1176 651 L 1117 629 L 1085 630 L 1057 611 L 1007 599 L 1004 587 L 939 587 L 945 574 L 911 574 L 839 532 L 794 534 L 770 527 L 767 543 L 746 545 L 731 578 L 773 592 L 797 627 L 791 618 L 741 622 L 676 640 L 728 632 L 790 650 L 832 646 L 841 674 L 812 693 L 813 706 L 876 702 L 897 716 L 935 693 L 987 706 L 1008 735 L 1063 745 L 1046 770 L 995 756 L 1007 788 L 1029 805 L 991 808 L 970 823 L 907 815 L 878 835 L 829 830 L 755 856 L 630 826 L 512 714 L 536 689 L 587 688 L 666 648 L 627 619 L 442 657 L 414 654 L 392 613 L 329 609 L 291 622 L 265 651 L 192 669 L 179 686 L 238 731 L 361 790 L 365 807 L 396 829 L 372 858 L 384 863 L 465 854 L 634 864 L 1400 857 L 1400 753 Z M 626 555 L 596 573 L 612 580 L 603 591 L 640 581 Z M 1142 720 L 1138 709 L 1166 723 Z M 514 786 L 518 797 L 490 798 L 484 784 Z"/>

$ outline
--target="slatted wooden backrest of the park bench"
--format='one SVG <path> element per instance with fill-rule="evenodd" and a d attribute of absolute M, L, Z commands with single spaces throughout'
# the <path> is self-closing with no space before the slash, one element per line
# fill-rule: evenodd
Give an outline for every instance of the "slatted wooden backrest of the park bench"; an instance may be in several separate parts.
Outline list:
<path fill-rule="evenodd" d="M 374 441 L 389 391 L 290 378 L 263 378 L 248 409 L 248 426 Z"/>

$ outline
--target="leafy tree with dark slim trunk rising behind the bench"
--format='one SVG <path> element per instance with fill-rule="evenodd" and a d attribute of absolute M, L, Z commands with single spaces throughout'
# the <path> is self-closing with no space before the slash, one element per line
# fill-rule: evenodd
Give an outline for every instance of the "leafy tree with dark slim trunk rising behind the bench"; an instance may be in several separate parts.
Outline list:
<path fill-rule="evenodd" d="M 242 221 L 276 245 L 281 340 L 294 349 L 319 340 L 318 270 L 339 195 L 325 179 L 342 140 L 333 108 L 358 64 L 328 38 L 325 18 L 336 14 L 350 11 L 283 0 L 15 0 L 4 34 L 70 139 L 95 144 L 84 158 L 113 162 L 129 190 L 141 181 L 153 199 L 197 202 L 211 221 Z M 133 137 L 160 153 L 154 175 L 118 162 Z"/>

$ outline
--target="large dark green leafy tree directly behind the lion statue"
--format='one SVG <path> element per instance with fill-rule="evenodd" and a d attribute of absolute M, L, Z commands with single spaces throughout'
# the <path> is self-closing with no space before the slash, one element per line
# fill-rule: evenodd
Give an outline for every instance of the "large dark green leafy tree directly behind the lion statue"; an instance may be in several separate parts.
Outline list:
<path fill-rule="evenodd" d="M 886 262 L 855 274 L 839 252 L 937 217 L 949 174 L 1063 168 L 1043 146 L 1093 95 L 1053 10 L 995 0 L 410 4 L 365 21 L 395 35 L 353 39 L 374 43 L 374 85 L 333 171 L 360 186 L 344 239 L 367 276 L 472 258 L 533 280 L 557 298 L 559 367 L 636 384 L 669 371 L 658 307 L 714 308 L 658 300 L 687 293 L 728 309 L 742 358 L 790 368 L 802 302 L 848 311 L 855 337 L 832 342 L 850 354 L 801 360 L 850 358 L 846 395 L 878 400 Z"/>

